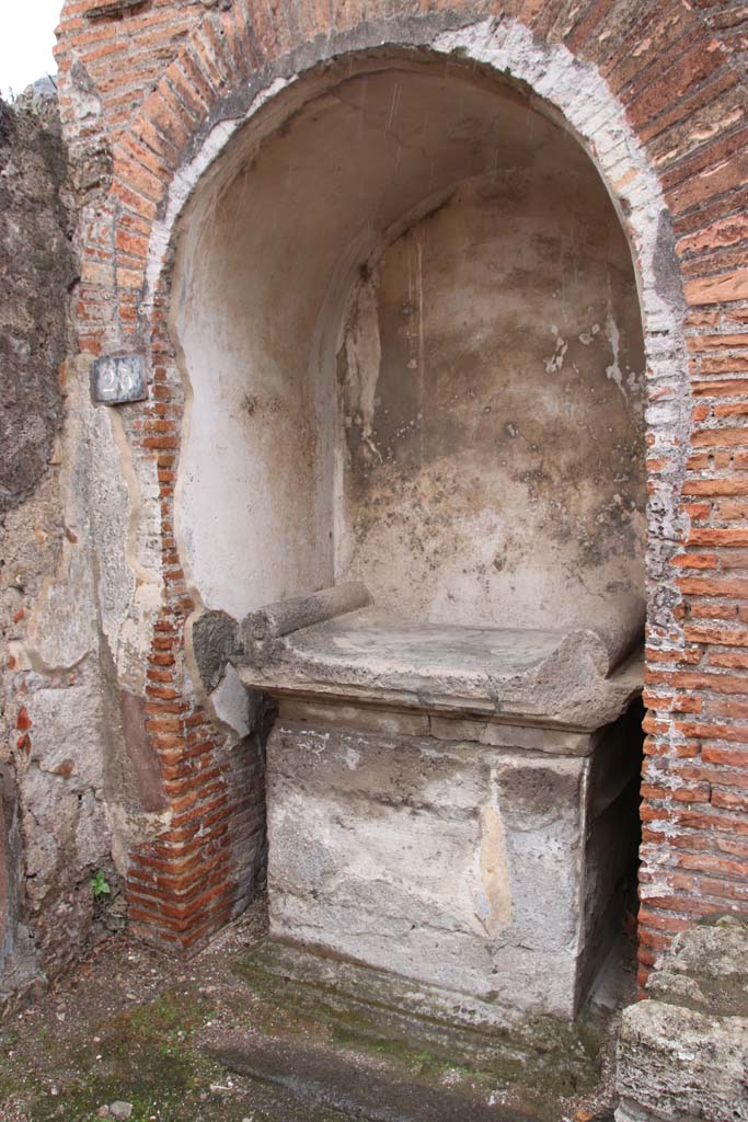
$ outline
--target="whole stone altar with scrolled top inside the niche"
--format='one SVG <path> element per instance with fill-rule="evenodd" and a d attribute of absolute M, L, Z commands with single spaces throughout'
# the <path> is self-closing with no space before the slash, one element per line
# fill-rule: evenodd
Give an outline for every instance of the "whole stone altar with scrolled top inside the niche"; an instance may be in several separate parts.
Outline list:
<path fill-rule="evenodd" d="M 360 585 L 247 617 L 271 937 L 573 1017 L 630 866 L 637 637 L 403 622 Z"/>

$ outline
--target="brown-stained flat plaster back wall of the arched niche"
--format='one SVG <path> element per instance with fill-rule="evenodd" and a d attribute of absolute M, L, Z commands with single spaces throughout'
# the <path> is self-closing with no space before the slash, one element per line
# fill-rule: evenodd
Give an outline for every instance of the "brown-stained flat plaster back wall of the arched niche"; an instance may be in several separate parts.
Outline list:
<path fill-rule="evenodd" d="M 525 136 L 504 120 L 497 132 L 501 167 L 409 228 L 359 291 L 339 569 L 410 618 L 594 625 L 615 601 L 640 618 L 628 246 L 567 137 L 534 117 Z"/>

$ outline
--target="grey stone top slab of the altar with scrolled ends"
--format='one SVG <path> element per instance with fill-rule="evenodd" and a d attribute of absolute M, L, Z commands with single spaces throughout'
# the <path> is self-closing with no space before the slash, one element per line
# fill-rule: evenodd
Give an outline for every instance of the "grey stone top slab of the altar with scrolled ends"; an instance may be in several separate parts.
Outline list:
<path fill-rule="evenodd" d="M 640 689 L 636 655 L 610 672 L 615 649 L 591 631 L 415 623 L 367 607 L 268 638 L 236 664 L 247 686 L 276 697 L 593 730 Z"/>

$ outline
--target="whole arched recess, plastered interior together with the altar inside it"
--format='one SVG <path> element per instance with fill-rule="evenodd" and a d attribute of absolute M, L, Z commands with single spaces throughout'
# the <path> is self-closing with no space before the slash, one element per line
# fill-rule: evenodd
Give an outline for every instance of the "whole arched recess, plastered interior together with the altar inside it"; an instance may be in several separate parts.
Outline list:
<path fill-rule="evenodd" d="M 278 701 L 271 937 L 569 1018 L 636 850 L 631 259 L 524 92 L 366 67 L 269 105 L 185 217 L 184 558 Z"/>

